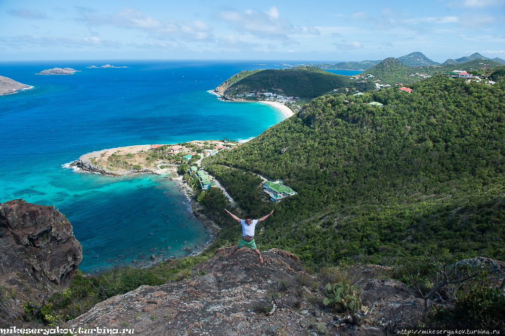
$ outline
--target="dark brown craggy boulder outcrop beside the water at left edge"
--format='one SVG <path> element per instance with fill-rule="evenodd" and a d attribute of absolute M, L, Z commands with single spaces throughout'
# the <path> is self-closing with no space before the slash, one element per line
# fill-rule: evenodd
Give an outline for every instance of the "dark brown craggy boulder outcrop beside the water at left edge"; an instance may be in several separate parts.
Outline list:
<path fill-rule="evenodd" d="M 15 282 L 32 278 L 61 284 L 82 260 L 82 246 L 65 215 L 53 205 L 22 199 L 0 203 L 0 249 L 2 279 Z"/>

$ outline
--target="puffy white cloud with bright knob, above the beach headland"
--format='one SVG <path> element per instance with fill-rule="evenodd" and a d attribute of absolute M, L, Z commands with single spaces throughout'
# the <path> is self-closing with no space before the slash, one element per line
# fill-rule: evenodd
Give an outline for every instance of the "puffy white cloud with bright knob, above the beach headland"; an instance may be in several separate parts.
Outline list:
<path fill-rule="evenodd" d="M 268 12 L 222 11 L 217 14 L 217 17 L 232 24 L 241 33 L 249 33 L 260 38 L 289 40 L 287 35 L 303 32 L 301 27 L 294 26 L 288 20 L 280 18 L 279 10 L 276 7 L 270 8 Z"/>

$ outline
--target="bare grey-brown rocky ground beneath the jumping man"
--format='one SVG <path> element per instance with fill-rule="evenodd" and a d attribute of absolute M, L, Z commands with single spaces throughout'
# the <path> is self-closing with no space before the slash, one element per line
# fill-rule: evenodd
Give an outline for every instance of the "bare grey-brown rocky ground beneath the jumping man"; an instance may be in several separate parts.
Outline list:
<path fill-rule="evenodd" d="M 373 278 L 380 267 L 364 266 L 351 281 L 363 290 L 360 297 L 372 311 L 358 328 L 345 314 L 336 315 L 323 305 L 321 279 L 309 275 L 296 255 L 272 249 L 262 252 L 262 264 L 250 249 L 233 257 L 230 250 L 218 249 L 188 279 L 141 286 L 98 303 L 68 324 L 127 326 L 136 335 L 384 335 L 423 310 L 414 290 Z"/>

